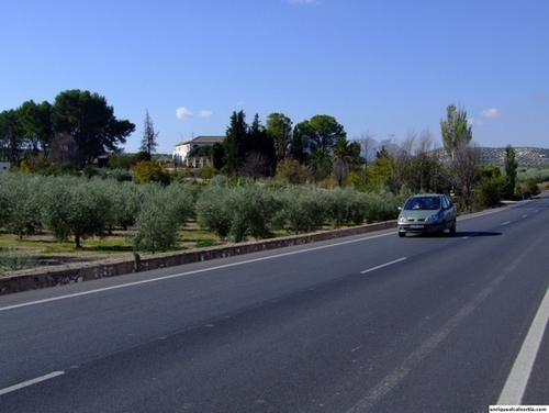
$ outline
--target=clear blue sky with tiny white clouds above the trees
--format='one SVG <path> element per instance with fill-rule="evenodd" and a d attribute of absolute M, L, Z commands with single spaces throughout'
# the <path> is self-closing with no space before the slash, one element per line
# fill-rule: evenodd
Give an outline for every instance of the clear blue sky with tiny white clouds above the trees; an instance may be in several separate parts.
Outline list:
<path fill-rule="evenodd" d="M 240 110 L 439 142 L 455 103 L 481 146 L 547 148 L 548 22 L 548 0 L 4 1 L 0 111 L 89 90 L 135 123 L 126 152 L 148 110 L 171 153 Z"/>

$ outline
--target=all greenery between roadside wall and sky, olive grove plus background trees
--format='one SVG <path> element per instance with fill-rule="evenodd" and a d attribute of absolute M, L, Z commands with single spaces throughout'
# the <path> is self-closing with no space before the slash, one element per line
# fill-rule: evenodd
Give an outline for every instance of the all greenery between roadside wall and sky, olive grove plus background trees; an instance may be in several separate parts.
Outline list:
<path fill-rule="evenodd" d="M 203 167 L 186 168 L 155 156 L 148 111 L 141 152 L 126 155 L 116 144 L 134 125 L 104 98 L 72 90 L 46 103 L 0 113 L 0 161 L 12 163 L 0 174 L 1 271 L 394 220 L 417 192 L 449 193 L 469 213 L 549 180 L 547 168 L 519 167 L 511 146 L 504 165 L 482 165 L 467 112 L 452 104 L 440 144 L 429 131 L 374 145 L 369 133 L 348 139 L 328 115 L 293 126 L 256 114 L 248 125 L 234 112 L 223 144 L 191 153 L 208 157 Z M 72 124 L 90 105 L 105 116 Z"/>

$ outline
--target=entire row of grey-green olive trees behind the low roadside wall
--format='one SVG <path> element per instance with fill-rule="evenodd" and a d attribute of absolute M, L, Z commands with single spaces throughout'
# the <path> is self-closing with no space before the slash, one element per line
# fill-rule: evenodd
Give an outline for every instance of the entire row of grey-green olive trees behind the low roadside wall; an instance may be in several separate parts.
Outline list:
<path fill-rule="evenodd" d="M 115 179 L 0 174 L 0 226 L 23 237 L 51 232 L 56 239 L 104 236 L 127 228 L 138 250 L 166 250 L 197 214 L 202 228 L 242 242 L 277 231 L 309 233 L 324 225 L 359 225 L 395 219 L 407 193 L 321 190 L 304 186 L 236 187 L 216 177 L 202 189 L 172 183 L 135 185 Z"/>

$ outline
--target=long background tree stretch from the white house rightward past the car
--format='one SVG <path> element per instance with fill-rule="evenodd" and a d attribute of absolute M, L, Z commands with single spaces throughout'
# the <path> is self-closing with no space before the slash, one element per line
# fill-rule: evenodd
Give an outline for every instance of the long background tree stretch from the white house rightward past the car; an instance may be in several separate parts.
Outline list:
<path fill-rule="evenodd" d="M 274 176 L 292 183 L 385 188 L 393 193 L 402 188 L 455 193 L 466 212 L 475 204 L 492 206 L 502 198 L 519 196 L 513 147 L 506 148 L 503 169 L 482 166 L 464 108 L 447 107 L 440 136 L 437 144 L 426 130 L 410 132 L 400 144 L 382 142 L 371 161 L 373 135 L 349 141 L 333 116 L 315 115 L 293 126 L 283 113 L 271 113 L 266 125 L 256 114 L 248 125 L 240 111 L 233 112 L 226 137 L 212 147 L 211 156 L 214 168 L 227 176 Z"/>

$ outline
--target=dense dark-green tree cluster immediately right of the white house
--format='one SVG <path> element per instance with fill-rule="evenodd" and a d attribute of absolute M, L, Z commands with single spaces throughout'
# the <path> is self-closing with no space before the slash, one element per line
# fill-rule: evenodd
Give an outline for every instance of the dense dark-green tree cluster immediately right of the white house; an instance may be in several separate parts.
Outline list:
<path fill-rule="evenodd" d="M 334 116 L 318 114 L 293 125 L 283 113 L 271 113 L 262 125 L 256 114 L 248 125 L 244 111 L 233 112 L 225 139 L 213 146 L 212 158 L 215 169 L 228 176 L 272 177 L 279 168 L 303 166 L 316 181 L 334 172 L 339 183 L 361 163 L 360 145 L 347 139 Z"/>

